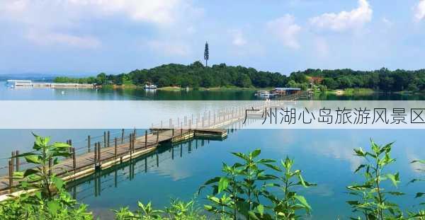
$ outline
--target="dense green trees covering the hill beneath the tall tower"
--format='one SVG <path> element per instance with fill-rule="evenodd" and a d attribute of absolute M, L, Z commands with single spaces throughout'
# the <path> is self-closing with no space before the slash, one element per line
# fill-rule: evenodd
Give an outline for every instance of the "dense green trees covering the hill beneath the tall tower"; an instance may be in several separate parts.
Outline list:
<path fill-rule="evenodd" d="M 98 74 L 96 78 L 72 79 L 57 77 L 57 82 L 98 83 L 104 84 L 135 84 L 143 86 L 154 83 L 158 86 L 182 87 L 273 87 L 285 86 L 287 77 L 279 73 L 256 71 L 254 68 L 243 66 L 226 66 L 226 64 L 212 65 L 205 68 L 199 61 L 190 65 L 166 64 L 152 69 L 136 69 L 128 74 L 107 75 Z"/>

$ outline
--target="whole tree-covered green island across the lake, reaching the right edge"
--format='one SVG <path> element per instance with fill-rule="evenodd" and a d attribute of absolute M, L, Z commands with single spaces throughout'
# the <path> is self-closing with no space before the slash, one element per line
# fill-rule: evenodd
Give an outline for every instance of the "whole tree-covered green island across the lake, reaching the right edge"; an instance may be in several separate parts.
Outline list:
<path fill-rule="evenodd" d="M 425 69 L 374 71 L 352 69 L 307 69 L 288 76 L 278 72 L 257 71 L 244 66 L 217 64 L 204 66 L 164 64 L 152 69 L 136 69 L 128 74 L 98 74 L 96 77 L 58 76 L 56 83 L 96 83 L 113 88 L 138 88 L 154 84 L 164 91 L 254 90 L 257 88 L 296 87 L 327 93 L 418 92 L 425 90 Z"/>

